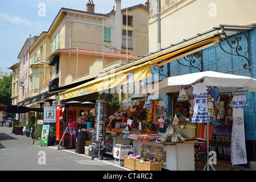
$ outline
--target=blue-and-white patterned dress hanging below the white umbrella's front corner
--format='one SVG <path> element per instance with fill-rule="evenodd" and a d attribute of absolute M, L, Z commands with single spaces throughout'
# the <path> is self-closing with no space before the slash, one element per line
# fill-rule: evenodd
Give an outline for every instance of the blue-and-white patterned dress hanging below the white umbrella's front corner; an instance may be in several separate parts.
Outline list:
<path fill-rule="evenodd" d="M 207 105 L 207 93 L 196 94 L 192 122 L 210 122 L 210 115 L 208 113 Z"/>

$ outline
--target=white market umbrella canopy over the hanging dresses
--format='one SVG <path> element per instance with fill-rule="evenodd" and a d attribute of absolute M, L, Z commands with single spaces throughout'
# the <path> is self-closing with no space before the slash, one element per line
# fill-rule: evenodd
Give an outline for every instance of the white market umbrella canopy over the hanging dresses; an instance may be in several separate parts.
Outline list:
<path fill-rule="evenodd" d="M 186 75 L 167 77 L 158 84 L 149 86 L 141 90 L 139 97 L 154 94 L 163 94 L 170 92 L 178 92 L 180 86 L 196 84 L 203 82 L 205 86 L 215 86 L 219 93 L 233 92 L 237 87 L 245 88 L 245 91 L 256 92 L 256 79 L 247 76 L 238 76 L 227 73 L 219 73 L 213 71 L 189 73 Z"/>

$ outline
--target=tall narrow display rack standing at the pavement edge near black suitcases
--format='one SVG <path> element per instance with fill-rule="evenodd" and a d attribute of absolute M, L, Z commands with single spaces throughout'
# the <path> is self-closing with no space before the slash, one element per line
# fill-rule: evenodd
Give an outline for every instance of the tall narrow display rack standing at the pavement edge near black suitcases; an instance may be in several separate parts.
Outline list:
<path fill-rule="evenodd" d="M 104 146 L 104 138 L 105 138 L 105 122 L 106 122 L 106 112 L 108 109 L 108 101 L 107 100 L 96 100 L 96 115 L 95 115 L 95 124 L 96 126 L 94 128 L 94 148 L 98 149 L 98 155 L 92 156 L 92 160 L 94 158 L 100 157 L 101 160 L 103 159 L 103 156 L 101 155 L 101 150 L 103 149 L 102 146 Z"/>

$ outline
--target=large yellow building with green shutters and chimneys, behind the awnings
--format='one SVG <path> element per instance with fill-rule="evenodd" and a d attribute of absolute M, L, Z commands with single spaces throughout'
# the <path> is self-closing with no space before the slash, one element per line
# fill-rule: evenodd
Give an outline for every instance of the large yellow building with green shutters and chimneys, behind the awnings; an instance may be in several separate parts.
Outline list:
<path fill-rule="evenodd" d="M 98 68 L 100 71 L 114 61 L 134 59 L 130 55 L 148 53 L 148 7 L 140 4 L 121 10 L 121 1 L 114 2 L 114 10 L 109 14 L 94 13 L 95 5 L 90 2 L 86 5 L 86 11 L 60 9 L 49 30 L 42 32 L 28 51 L 29 87 L 24 96 L 26 101 L 21 105 L 31 104 L 35 97 L 45 100 L 50 96 L 55 98 L 55 93 L 49 94 L 49 87 L 54 89 L 75 83 L 79 78 L 95 77 L 96 72 L 90 76 L 88 74 L 89 66 L 96 60 L 104 60 L 102 67 Z M 123 24 L 126 22 L 126 12 L 127 26 Z M 71 53 L 68 48 L 97 50 L 101 51 L 101 55 Z M 122 53 L 122 56 L 104 57 L 109 51 Z"/>

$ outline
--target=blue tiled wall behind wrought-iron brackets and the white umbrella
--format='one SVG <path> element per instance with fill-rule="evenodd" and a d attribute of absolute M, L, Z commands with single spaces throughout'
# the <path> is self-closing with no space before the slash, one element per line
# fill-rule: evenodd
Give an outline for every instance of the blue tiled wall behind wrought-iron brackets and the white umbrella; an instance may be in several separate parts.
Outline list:
<path fill-rule="evenodd" d="M 245 37 L 241 35 L 242 40 L 239 42 L 242 47 L 242 52 L 244 53 L 247 49 L 247 42 Z M 234 38 L 230 37 L 229 40 Z M 235 49 L 232 49 L 225 42 L 221 43 L 222 47 L 227 52 L 236 53 Z M 243 68 L 243 64 L 247 61 L 240 56 L 229 55 L 222 51 L 219 45 L 212 46 L 206 49 L 203 49 L 203 71 L 216 71 L 216 72 L 228 72 L 229 74 L 249 76 L 256 78 L 256 67 L 249 69 L 242 69 L 239 71 L 233 71 L 236 69 Z M 251 66 L 256 65 L 256 32 L 255 28 L 250 31 L 250 55 L 251 55 Z M 246 55 L 247 57 L 248 55 Z M 199 59 L 195 59 L 198 63 Z M 184 59 L 179 59 L 180 63 L 188 65 L 189 63 Z M 164 66 L 164 69 L 167 69 L 167 65 Z M 233 72 L 229 72 L 233 71 Z M 156 72 L 152 70 L 152 72 Z M 170 76 L 184 75 L 187 73 L 199 72 L 196 68 L 184 67 L 174 61 L 170 64 Z M 165 78 L 165 77 L 160 77 Z M 164 97 L 164 96 L 163 96 Z M 248 106 L 244 108 L 244 117 L 245 117 L 245 138 L 247 140 L 256 140 L 256 93 L 246 92 L 246 99 Z"/>

